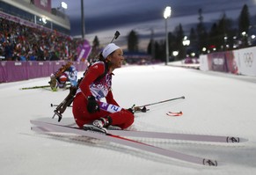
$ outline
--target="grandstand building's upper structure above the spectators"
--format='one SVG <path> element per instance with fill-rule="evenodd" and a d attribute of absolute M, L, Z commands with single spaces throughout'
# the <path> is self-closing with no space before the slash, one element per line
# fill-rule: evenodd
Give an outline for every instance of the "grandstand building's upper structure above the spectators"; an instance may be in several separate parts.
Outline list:
<path fill-rule="evenodd" d="M 51 0 L 0 0 L 0 18 L 70 35 L 69 17 L 61 8 L 52 9 Z"/>

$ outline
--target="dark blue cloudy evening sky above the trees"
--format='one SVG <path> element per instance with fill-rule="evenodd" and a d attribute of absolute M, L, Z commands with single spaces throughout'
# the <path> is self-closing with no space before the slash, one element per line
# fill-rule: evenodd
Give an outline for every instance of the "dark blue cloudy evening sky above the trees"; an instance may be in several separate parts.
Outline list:
<path fill-rule="evenodd" d="M 62 0 L 52 0 L 52 7 L 60 6 Z M 71 35 L 81 34 L 81 1 L 64 0 L 68 4 Z M 168 30 L 172 31 L 181 24 L 186 31 L 198 23 L 198 10 L 202 9 L 205 23 L 213 23 L 225 12 L 228 18 L 237 19 L 244 4 L 249 7 L 255 18 L 256 0 L 84 0 L 85 35 L 121 30 L 125 35 L 132 29 L 138 33 L 163 35 L 165 6 L 172 7 L 172 16 L 168 19 Z M 254 12 L 255 11 L 255 12 Z M 187 27 L 187 28 L 186 28 Z M 147 32 L 146 32 L 147 31 Z M 108 34 L 106 32 L 106 34 Z M 163 36 L 164 37 L 164 36 Z"/>

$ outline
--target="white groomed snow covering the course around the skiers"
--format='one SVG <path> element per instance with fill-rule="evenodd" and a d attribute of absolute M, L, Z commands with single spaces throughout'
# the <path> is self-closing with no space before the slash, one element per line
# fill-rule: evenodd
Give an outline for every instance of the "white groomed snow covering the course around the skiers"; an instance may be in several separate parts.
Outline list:
<path fill-rule="evenodd" d="M 76 135 L 40 135 L 30 120 L 56 122 L 53 107 L 69 91 L 19 90 L 48 84 L 48 77 L 0 84 L 0 170 L 8 175 L 46 174 L 255 174 L 256 77 L 202 72 L 165 65 L 127 66 L 114 70 L 113 95 L 128 108 L 185 96 L 149 106 L 135 114 L 130 129 L 201 135 L 232 135 L 249 139 L 238 144 L 136 139 L 165 149 L 219 161 L 207 167 L 157 156 L 112 142 Z M 79 73 L 82 76 L 82 72 Z M 182 111 L 181 117 L 165 113 Z M 61 123 L 73 123 L 71 109 Z"/>

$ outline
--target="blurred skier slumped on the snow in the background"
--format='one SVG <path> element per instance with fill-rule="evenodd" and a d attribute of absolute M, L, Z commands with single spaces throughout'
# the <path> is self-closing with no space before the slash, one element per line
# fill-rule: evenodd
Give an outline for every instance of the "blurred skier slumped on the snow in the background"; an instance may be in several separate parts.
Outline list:
<path fill-rule="evenodd" d="M 77 69 L 72 65 L 72 62 L 68 62 L 51 74 L 50 78 L 49 84 L 53 91 L 56 91 L 57 87 L 65 88 L 67 82 L 70 82 L 71 86 L 77 86 Z"/>

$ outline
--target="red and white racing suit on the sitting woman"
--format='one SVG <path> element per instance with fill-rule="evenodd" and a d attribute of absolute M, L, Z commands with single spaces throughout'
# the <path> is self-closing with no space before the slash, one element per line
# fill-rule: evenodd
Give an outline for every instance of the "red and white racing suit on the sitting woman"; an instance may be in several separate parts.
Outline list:
<path fill-rule="evenodd" d="M 134 122 L 134 114 L 130 113 L 127 109 L 122 109 L 116 113 L 109 113 L 103 110 L 96 113 L 89 113 L 87 111 L 87 97 L 89 96 L 94 96 L 98 101 L 106 98 L 106 103 L 119 106 L 113 99 L 111 91 L 113 74 L 106 73 L 104 77 L 97 80 L 98 77 L 105 73 L 105 69 L 104 62 L 95 62 L 86 71 L 83 80 L 79 84 L 76 98 L 73 101 L 73 115 L 79 128 L 83 128 L 84 124 L 106 116 L 111 117 L 112 125 L 120 128 L 128 128 Z"/>

